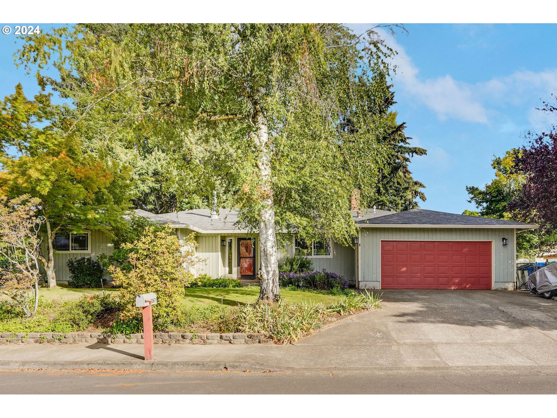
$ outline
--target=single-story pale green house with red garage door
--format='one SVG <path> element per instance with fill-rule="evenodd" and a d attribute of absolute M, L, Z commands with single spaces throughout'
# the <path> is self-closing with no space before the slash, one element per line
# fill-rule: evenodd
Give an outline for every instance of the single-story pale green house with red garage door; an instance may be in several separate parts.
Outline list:
<path fill-rule="evenodd" d="M 260 263 L 257 234 L 236 227 L 238 213 L 208 209 L 174 213 L 135 211 L 152 221 L 170 223 L 179 238 L 196 232 L 197 254 L 203 263 L 195 274 L 214 278 L 257 278 Z M 343 275 L 360 289 L 514 289 L 516 234 L 538 225 L 454 213 L 413 209 L 389 212 L 352 211 L 358 227 L 353 246 L 292 239 L 280 258 L 300 252 L 315 270 Z M 57 238 L 57 280 L 69 280 L 71 257 L 110 254 L 102 232 Z M 107 280 L 111 280 L 107 275 Z"/>

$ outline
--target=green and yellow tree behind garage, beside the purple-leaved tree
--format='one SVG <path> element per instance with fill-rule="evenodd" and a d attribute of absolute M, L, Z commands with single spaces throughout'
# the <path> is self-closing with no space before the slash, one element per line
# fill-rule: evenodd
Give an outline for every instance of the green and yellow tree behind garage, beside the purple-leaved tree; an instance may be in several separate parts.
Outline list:
<path fill-rule="evenodd" d="M 470 195 L 468 202 L 474 203 L 479 211 L 463 212 L 463 215 L 485 216 L 509 221 L 535 222 L 529 214 L 520 215 L 512 210 L 511 203 L 521 199 L 527 176 L 517 167 L 522 150 L 511 149 L 504 157 L 496 157 L 491 167 L 495 170 L 495 179 L 485 187 L 467 186 Z M 516 236 L 516 251 L 519 256 L 531 257 L 548 250 L 557 243 L 557 234 L 553 230 L 541 229 L 524 231 Z"/>

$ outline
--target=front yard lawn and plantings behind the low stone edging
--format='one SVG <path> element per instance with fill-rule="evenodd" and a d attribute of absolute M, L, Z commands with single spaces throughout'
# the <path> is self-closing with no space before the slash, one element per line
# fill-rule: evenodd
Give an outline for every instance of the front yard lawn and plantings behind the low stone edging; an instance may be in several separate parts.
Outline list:
<path fill-rule="evenodd" d="M 350 290 L 295 288 L 281 289 L 279 303 L 257 305 L 259 291 L 255 286 L 187 288 L 167 324 L 155 324 L 155 343 L 289 343 L 347 314 L 380 307 L 377 298 L 366 300 Z M 0 343 L 143 343 L 140 320 L 119 320 L 118 289 L 106 291 L 105 297 L 100 289 L 40 293 L 34 318 L 22 318 L 7 305 L 0 309 Z"/>

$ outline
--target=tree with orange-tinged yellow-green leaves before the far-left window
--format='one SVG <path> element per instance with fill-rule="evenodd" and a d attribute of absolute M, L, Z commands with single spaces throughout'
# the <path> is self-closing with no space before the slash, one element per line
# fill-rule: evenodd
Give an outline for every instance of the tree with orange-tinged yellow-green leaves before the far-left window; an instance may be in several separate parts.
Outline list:
<path fill-rule="evenodd" d="M 36 202 L 47 249 L 38 260 L 50 287 L 56 286 L 56 235 L 70 230 L 114 235 L 129 208 L 130 183 L 126 167 L 86 152 L 76 133 L 56 127 L 67 121 L 49 123 L 56 113 L 47 95 L 27 100 L 21 86 L 0 112 L 0 196 L 28 195 Z"/>

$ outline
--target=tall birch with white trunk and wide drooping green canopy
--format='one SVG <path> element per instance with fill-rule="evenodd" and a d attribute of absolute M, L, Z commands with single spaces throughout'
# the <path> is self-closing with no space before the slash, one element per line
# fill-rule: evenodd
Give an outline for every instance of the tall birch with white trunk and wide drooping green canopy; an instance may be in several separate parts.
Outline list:
<path fill-rule="evenodd" d="M 40 83 L 72 99 L 69 131 L 80 132 L 86 146 L 122 159 L 172 155 L 166 161 L 176 184 L 160 187 L 164 204 L 149 201 L 147 186 L 138 205 L 194 206 L 216 190 L 239 208 L 241 223 L 258 229 L 260 299 L 279 295 L 277 230 L 348 244 L 354 187 L 370 200 L 385 163 L 412 153 L 400 149 L 401 126 L 376 99 L 388 96 L 374 77 L 388 76 L 385 57 L 394 52 L 373 31 L 78 25 L 27 41 L 22 62 L 37 64 Z M 49 63 L 56 79 L 41 71 Z M 415 190 L 419 184 L 396 166 L 383 172 Z M 153 174 L 145 169 L 138 179 L 153 181 Z"/>

